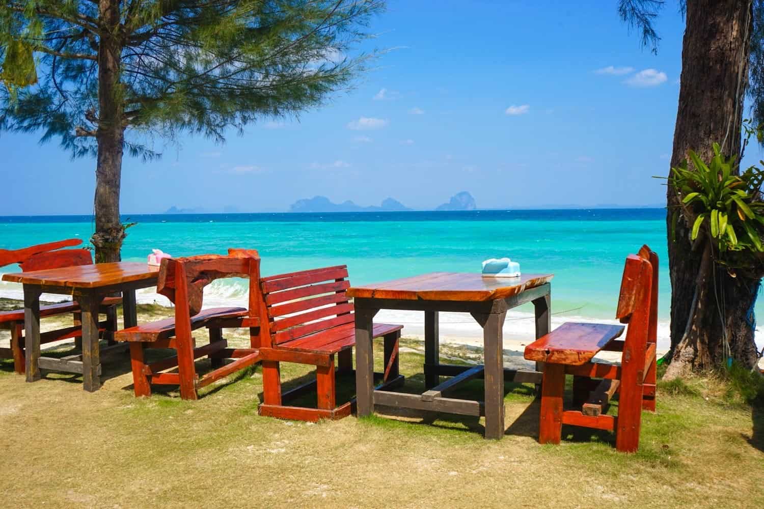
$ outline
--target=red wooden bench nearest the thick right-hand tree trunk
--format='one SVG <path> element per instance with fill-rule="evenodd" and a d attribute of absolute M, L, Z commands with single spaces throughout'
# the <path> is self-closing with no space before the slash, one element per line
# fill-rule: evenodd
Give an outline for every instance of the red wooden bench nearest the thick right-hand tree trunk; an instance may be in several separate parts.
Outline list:
<path fill-rule="evenodd" d="M 626 257 L 616 317 L 620 325 L 566 323 L 526 346 L 525 358 L 544 362 L 539 442 L 559 443 L 562 424 L 616 433 L 616 449 L 639 447 L 642 410 L 656 409 L 658 256 L 648 246 Z M 601 351 L 623 352 L 620 366 L 591 362 Z M 573 406 L 565 410 L 565 375 L 574 375 Z M 613 398 L 617 416 L 607 414 Z"/>

